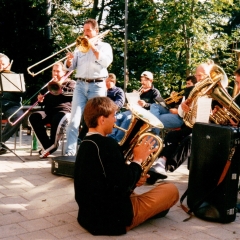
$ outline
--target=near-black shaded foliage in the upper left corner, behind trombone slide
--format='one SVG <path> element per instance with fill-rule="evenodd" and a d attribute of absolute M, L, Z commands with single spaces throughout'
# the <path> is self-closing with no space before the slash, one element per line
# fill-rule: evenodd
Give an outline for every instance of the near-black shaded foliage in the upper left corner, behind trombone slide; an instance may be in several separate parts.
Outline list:
<path fill-rule="evenodd" d="M 45 1 L 2 0 L 0 5 L 1 52 L 13 60 L 12 71 L 24 73 L 27 96 L 50 80 L 49 75 L 33 79 L 27 67 L 53 51 L 53 39 L 45 36 Z"/>

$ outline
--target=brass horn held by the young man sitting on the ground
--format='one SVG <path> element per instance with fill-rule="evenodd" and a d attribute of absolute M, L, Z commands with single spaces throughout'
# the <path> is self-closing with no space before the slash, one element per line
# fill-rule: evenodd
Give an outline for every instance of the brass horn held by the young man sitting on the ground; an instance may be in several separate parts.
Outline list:
<path fill-rule="evenodd" d="M 125 130 L 115 126 L 116 128 L 125 132 L 125 135 L 119 142 L 119 145 L 123 150 L 126 162 L 130 163 L 133 160 L 134 147 L 145 137 L 153 137 L 156 142 L 155 145 L 158 147 L 156 148 L 156 151 L 148 157 L 148 159 L 142 162 L 142 175 L 145 175 L 163 149 L 162 139 L 159 136 L 149 132 L 149 130 L 153 127 L 163 128 L 164 126 L 158 120 L 158 118 L 156 118 L 146 109 L 137 105 L 131 106 L 129 104 L 128 108 L 132 112 L 132 119 L 129 128 Z"/>

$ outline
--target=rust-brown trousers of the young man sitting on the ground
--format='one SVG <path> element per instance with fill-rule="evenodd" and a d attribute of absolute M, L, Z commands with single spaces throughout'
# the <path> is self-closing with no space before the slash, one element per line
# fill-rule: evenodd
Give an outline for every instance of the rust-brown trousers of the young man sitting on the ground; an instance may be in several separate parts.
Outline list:
<path fill-rule="evenodd" d="M 126 228 L 127 231 L 171 208 L 178 201 L 179 193 L 174 184 L 164 183 L 143 194 L 133 194 L 130 199 L 133 206 L 133 220 Z"/>

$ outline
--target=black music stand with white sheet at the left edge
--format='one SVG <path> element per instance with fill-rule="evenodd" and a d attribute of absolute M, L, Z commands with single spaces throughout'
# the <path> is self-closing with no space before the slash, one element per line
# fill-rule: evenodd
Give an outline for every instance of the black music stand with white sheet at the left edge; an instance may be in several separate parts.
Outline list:
<path fill-rule="evenodd" d="M 2 142 L 2 96 L 4 92 L 25 92 L 25 83 L 23 74 L 16 73 L 0 73 L 0 147 L 9 150 L 20 160 L 25 162 L 14 151 L 9 149 Z"/>

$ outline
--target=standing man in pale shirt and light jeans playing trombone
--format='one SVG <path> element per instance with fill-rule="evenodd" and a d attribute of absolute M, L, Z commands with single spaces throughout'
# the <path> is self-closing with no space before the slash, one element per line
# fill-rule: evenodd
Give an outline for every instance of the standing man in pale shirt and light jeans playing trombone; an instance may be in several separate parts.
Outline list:
<path fill-rule="evenodd" d="M 82 52 L 78 48 L 67 53 L 65 62 L 68 70 L 76 69 L 76 88 L 73 93 L 71 119 L 67 129 L 66 156 L 74 156 L 77 148 L 79 125 L 87 101 L 93 97 L 106 96 L 105 79 L 107 67 L 113 60 L 112 48 L 98 39 L 98 23 L 95 19 L 85 21 L 84 37 L 90 49 Z"/>

